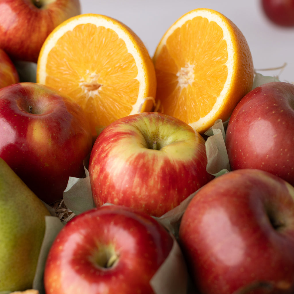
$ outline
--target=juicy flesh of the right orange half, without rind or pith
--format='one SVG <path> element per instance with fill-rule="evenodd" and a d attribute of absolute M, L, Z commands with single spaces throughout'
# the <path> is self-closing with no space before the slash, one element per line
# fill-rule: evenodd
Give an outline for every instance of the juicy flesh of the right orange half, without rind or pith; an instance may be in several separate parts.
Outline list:
<path fill-rule="evenodd" d="M 156 59 L 156 98 L 163 112 L 188 123 L 211 111 L 228 76 L 223 30 L 197 16 L 177 28 Z"/>

